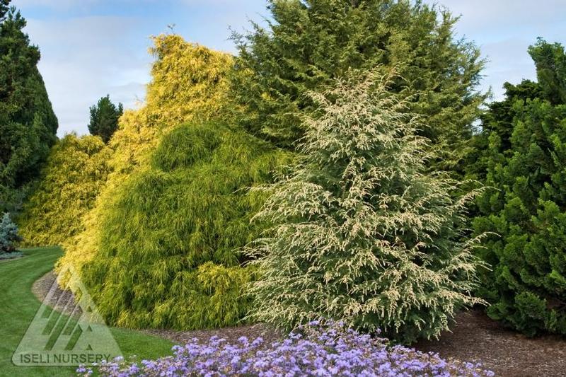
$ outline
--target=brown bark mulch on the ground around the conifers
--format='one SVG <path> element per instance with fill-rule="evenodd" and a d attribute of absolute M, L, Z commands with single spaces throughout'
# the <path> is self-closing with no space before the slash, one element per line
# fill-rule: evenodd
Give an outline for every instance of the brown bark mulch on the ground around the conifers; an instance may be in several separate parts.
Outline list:
<path fill-rule="evenodd" d="M 45 274 L 33 284 L 33 293 L 40 301 L 54 283 L 53 272 Z M 69 291 L 55 290 L 50 306 L 64 310 L 74 300 Z M 282 333 L 262 324 L 225 327 L 214 330 L 174 331 L 144 330 L 147 334 L 164 337 L 178 344 L 192 338 L 207 340 L 216 335 L 228 342 L 238 337 L 255 339 L 262 337 L 267 344 L 279 340 Z M 440 356 L 463 361 L 480 361 L 485 368 L 495 371 L 497 376 L 565 376 L 566 339 L 545 336 L 530 339 L 512 330 L 507 330 L 491 320 L 480 309 L 461 313 L 451 332 L 444 332 L 438 341 L 423 341 L 415 345 L 422 352 L 437 352 Z"/>

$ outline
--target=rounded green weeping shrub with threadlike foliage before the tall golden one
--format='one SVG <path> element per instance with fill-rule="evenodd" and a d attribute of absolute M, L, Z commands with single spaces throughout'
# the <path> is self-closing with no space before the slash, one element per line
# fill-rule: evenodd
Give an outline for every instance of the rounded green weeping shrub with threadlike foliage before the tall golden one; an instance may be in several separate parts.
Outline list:
<path fill-rule="evenodd" d="M 239 247 L 261 197 L 246 187 L 270 180 L 284 154 L 221 124 L 166 134 L 150 166 L 134 173 L 100 221 L 99 248 L 83 282 L 109 323 L 180 330 L 238 323 L 254 278 Z"/>

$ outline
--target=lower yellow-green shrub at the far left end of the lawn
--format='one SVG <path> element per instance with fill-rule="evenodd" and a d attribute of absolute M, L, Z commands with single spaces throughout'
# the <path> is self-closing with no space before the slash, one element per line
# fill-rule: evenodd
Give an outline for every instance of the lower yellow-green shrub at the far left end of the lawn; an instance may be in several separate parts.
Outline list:
<path fill-rule="evenodd" d="M 105 185 L 112 150 L 100 137 L 68 134 L 55 144 L 18 216 L 23 243 L 60 245 L 83 231 L 82 217 Z"/>

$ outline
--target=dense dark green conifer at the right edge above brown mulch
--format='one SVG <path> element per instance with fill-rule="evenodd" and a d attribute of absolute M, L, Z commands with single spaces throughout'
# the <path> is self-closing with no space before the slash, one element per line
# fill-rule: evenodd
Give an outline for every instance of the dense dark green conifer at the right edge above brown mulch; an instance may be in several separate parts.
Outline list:
<path fill-rule="evenodd" d="M 487 313 L 535 335 L 566 334 L 566 54 L 558 43 L 529 48 L 538 82 L 505 84 L 490 105 L 472 167 L 497 190 L 478 201 L 478 232 L 495 232 L 482 252 Z"/>

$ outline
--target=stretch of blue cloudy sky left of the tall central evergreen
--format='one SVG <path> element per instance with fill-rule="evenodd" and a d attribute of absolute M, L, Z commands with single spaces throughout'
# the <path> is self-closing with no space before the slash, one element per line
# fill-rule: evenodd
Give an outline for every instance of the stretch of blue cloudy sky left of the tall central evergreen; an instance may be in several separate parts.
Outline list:
<path fill-rule="evenodd" d="M 152 58 L 149 35 L 175 32 L 216 50 L 234 52 L 229 26 L 265 13 L 263 0 L 13 0 L 40 47 L 39 69 L 59 118 L 59 136 L 88 132 L 88 108 L 107 93 L 137 105 L 145 95 Z M 88 16 L 137 14 L 137 18 Z"/>

